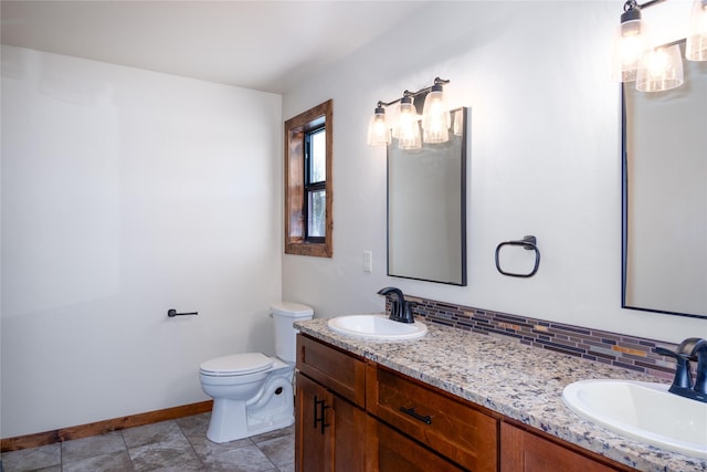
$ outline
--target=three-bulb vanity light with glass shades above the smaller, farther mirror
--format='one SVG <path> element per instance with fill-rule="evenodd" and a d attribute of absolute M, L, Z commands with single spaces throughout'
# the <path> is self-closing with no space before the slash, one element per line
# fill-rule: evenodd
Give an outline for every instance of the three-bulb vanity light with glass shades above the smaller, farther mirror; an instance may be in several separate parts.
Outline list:
<path fill-rule="evenodd" d="M 443 85 L 449 84 L 435 77 L 434 84 L 418 92 L 404 91 L 403 96 L 392 102 L 378 102 L 368 126 L 368 144 L 383 146 L 398 139 L 400 149 L 420 149 L 422 143 L 446 143 L 450 140 L 452 119 Z M 422 116 L 416 105 L 424 98 Z M 398 104 L 394 119 L 387 118 L 386 108 Z M 422 132 L 420 130 L 422 122 Z"/>

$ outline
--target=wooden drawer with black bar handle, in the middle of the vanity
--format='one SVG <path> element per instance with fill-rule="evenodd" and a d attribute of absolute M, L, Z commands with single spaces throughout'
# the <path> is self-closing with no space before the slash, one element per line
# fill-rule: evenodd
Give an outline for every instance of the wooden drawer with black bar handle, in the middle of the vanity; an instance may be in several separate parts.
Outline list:
<path fill-rule="evenodd" d="M 498 420 L 388 369 L 367 369 L 368 411 L 464 469 L 496 471 Z"/>

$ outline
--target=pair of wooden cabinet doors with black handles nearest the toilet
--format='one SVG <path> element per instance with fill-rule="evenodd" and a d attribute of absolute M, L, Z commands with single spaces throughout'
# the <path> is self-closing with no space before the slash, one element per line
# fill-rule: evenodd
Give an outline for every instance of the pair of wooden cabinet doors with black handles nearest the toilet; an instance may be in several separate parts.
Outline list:
<path fill-rule="evenodd" d="M 295 470 L 363 472 L 366 412 L 297 375 Z"/>

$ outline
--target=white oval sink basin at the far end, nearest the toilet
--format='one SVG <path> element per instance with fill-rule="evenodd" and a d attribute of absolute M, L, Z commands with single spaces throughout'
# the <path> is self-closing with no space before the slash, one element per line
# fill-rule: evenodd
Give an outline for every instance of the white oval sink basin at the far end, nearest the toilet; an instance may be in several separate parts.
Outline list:
<path fill-rule="evenodd" d="M 428 333 L 420 322 L 393 322 L 384 314 L 337 316 L 328 325 L 336 333 L 366 339 L 415 339 Z"/>

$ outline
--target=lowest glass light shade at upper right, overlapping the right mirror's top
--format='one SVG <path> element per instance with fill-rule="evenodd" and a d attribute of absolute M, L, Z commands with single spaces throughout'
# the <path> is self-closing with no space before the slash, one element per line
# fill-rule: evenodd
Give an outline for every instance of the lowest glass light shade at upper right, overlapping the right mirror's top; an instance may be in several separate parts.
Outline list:
<path fill-rule="evenodd" d="M 683 57 L 678 44 L 647 51 L 639 67 L 636 88 L 641 92 L 662 92 L 679 87 L 683 77 Z"/>

